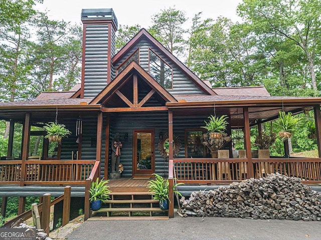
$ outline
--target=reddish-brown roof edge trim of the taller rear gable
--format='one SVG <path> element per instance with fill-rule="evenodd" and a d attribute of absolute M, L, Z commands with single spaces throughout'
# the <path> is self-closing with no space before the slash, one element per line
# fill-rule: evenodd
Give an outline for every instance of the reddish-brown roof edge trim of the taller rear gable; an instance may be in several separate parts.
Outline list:
<path fill-rule="evenodd" d="M 157 41 L 150 33 L 145 29 L 141 28 L 140 31 L 131 38 L 123 48 L 121 48 L 112 58 L 112 61 L 116 63 L 122 56 L 124 56 L 136 43 L 142 38 L 146 37 L 155 47 L 157 47 L 162 53 L 169 57 L 177 66 L 179 66 L 205 93 L 210 95 L 216 95 L 216 93 L 202 81 L 194 72 L 192 72 L 185 64 L 183 64 L 176 56 L 173 55 L 165 46 Z"/>

